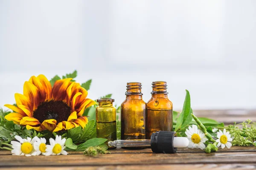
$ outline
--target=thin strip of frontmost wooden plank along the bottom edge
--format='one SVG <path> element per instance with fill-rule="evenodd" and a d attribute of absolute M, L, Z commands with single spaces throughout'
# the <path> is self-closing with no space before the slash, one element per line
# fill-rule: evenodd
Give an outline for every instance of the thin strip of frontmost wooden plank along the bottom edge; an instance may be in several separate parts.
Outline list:
<path fill-rule="evenodd" d="M 253 170 L 256 164 L 159 164 L 159 165 L 111 165 L 111 166 L 72 166 L 72 167 L 15 167 L 12 170 Z M 9 168 L 0 168 L 0 170 L 9 170 Z"/>

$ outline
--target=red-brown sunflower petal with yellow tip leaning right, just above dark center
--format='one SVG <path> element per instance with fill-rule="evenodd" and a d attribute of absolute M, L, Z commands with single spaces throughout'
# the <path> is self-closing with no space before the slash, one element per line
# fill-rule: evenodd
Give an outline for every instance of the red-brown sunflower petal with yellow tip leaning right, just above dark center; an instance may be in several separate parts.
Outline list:
<path fill-rule="evenodd" d="M 71 84 L 70 80 L 72 80 L 72 78 L 57 80 L 54 83 L 52 88 L 52 99 L 63 101 L 66 98 L 67 88 Z"/>

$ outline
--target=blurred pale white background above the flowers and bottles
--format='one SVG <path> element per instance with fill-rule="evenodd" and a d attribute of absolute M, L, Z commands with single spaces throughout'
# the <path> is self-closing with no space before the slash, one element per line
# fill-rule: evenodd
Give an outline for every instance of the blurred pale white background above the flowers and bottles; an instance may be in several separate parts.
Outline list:
<path fill-rule="evenodd" d="M 0 107 L 32 75 L 77 69 L 89 97 L 125 99 L 126 82 L 168 83 L 174 109 L 256 108 L 254 0 L 0 0 Z"/>

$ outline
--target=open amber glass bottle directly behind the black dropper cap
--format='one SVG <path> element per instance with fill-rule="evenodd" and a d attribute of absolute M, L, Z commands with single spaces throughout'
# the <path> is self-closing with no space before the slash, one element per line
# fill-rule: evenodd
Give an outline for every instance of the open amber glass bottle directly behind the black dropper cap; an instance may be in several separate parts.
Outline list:
<path fill-rule="evenodd" d="M 152 97 L 147 103 L 147 139 L 157 130 L 172 131 L 172 102 L 167 97 L 166 82 L 152 82 L 152 88 Z"/>

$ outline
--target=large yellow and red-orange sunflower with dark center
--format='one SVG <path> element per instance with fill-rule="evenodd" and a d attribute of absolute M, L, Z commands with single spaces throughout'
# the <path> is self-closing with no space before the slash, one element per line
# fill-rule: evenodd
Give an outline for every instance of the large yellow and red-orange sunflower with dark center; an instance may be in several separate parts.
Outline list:
<path fill-rule="evenodd" d="M 15 113 L 5 119 L 37 131 L 68 130 L 84 127 L 88 119 L 84 109 L 96 102 L 87 99 L 87 91 L 72 78 L 57 80 L 53 87 L 44 75 L 32 76 L 23 86 L 23 94 L 15 94 L 15 105 L 5 105 Z"/>

